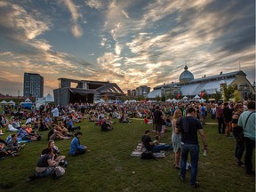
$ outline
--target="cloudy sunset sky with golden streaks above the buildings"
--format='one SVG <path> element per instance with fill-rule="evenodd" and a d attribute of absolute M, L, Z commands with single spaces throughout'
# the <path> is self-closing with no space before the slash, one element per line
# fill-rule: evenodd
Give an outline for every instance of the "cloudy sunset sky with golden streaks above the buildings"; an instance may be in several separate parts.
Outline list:
<path fill-rule="evenodd" d="M 1 0 L 0 93 L 25 72 L 110 81 L 126 92 L 243 70 L 255 81 L 254 0 Z"/>

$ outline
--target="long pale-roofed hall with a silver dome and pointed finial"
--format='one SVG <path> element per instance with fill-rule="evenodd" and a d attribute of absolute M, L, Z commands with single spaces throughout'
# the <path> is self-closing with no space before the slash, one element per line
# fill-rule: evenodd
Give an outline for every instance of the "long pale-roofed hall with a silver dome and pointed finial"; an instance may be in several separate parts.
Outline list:
<path fill-rule="evenodd" d="M 194 75 L 188 71 L 185 66 L 184 71 L 180 74 L 180 82 L 172 84 L 163 84 L 154 87 L 152 92 L 148 93 L 148 99 L 156 99 L 156 97 L 164 97 L 168 99 L 170 95 L 187 96 L 192 99 L 202 92 L 207 93 L 209 98 L 214 98 L 216 92 L 220 92 L 221 84 L 236 85 L 237 91 L 240 92 L 241 98 L 246 99 L 250 94 L 255 95 L 255 89 L 246 78 L 246 74 L 242 71 L 234 71 L 229 73 L 220 72 L 215 76 L 203 76 L 202 78 L 194 78 Z"/>

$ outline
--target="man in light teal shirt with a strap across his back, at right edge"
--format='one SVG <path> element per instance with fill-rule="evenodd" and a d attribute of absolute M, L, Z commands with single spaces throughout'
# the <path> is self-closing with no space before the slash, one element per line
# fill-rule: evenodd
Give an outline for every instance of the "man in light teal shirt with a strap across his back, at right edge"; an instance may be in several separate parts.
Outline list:
<path fill-rule="evenodd" d="M 245 156 L 244 165 L 247 174 L 255 174 L 252 171 L 252 153 L 255 148 L 255 102 L 248 103 L 248 110 L 244 111 L 238 119 L 238 126 L 244 130 Z"/>

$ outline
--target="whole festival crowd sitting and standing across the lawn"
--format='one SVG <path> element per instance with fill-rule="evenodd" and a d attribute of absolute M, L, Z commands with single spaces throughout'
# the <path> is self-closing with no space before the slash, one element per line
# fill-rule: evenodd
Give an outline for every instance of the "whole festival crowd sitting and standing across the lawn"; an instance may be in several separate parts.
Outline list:
<path fill-rule="evenodd" d="M 185 180 L 185 166 L 188 153 L 191 155 L 190 185 L 199 187 L 196 181 L 199 145 L 197 132 L 204 143 L 204 149 L 208 151 L 203 125 L 206 124 L 206 116 L 217 119 L 217 132 L 225 134 L 228 138 L 236 139 L 234 152 L 235 162 L 239 166 L 245 165 L 246 173 L 252 171 L 252 151 L 255 148 L 255 102 L 233 103 L 118 103 L 118 104 L 89 104 L 75 103 L 67 107 L 46 105 L 39 109 L 30 110 L 12 108 L 6 106 L 0 117 L 0 127 L 8 132 L 13 132 L 8 140 L 0 140 L 0 158 L 5 156 L 19 156 L 20 141 L 41 140 L 42 134 L 48 132 L 49 145 L 40 156 L 36 166 L 36 177 L 52 175 L 56 164 L 60 164 L 65 156 L 58 156 L 54 140 L 72 139 L 70 142 L 70 156 L 77 156 L 86 152 L 86 147 L 80 144 L 83 133 L 76 123 L 88 118 L 95 126 L 100 126 L 102 132 L 113 130 L 113 124 L 130 124 L 131 118 L 141 118 L 145 124 L 150 124 L 155 132 L 156 141 L 150 138 L 150 130 L 145 131 L 141 141 L 148 151 L 158 152 L 173 149 L 173 166 L 180 169 L 180 180 Z M 163 137 L 165 132 L 172 132 L 172 143 L 160 145 L 157 140 Z M 6 132 L 5 132 L 6 133 Z M 74 134 L 74 135 L 73 135 Z M 12 142 L 12 144 L 8 144 Z M 52 144 L 53 143 L 53 144 Z M 244 163 L 242 157 L 244 155 Z M 13 152 L 14 151 L 14 152 Z M 14 155 L 13 155 L 14 154 Z M 50 167 L 49 169 L 46 167 Z"/>

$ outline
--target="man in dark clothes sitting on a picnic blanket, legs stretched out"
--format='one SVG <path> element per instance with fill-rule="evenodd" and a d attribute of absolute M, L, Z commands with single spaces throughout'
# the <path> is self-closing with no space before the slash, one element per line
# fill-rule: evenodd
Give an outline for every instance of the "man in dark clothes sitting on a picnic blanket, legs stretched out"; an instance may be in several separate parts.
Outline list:
<path fill-rule="evenodd" d="M 158 153 L 161 150 L 170 150 L 172 149 L 172 145 L 156 145 L 150 138 L 150 131 L 146 130 L 145 134 L 142 136 L 141 141 L 143 143 L 142 148 L 145 147 L 148 151 L 152 151 L 153 153 Z"/>

